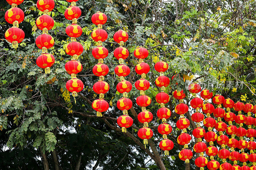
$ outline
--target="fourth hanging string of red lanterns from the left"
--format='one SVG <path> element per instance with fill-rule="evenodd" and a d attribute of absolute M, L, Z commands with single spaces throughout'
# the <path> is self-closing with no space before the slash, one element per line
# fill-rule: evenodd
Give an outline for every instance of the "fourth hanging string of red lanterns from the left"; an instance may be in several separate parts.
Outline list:
<path fill-rule="evenodd" d="M 104 36 L 101 34 L 98 34 L 96 37 L 92 36 L 92 39 L 97 42 L 97 47 L 92 49 L 92 55 L 95 59 L 98 59 L 98 63 L 93 67 L 92 71 L 94 75 L 99 77 L 99 81 L 93 85 L 92 89 L 95 93 L 100 95 L 99 99 L 92 102 L 92 108 L 97 111 L 97 116 L 99 117 L 101 117 L 102 112 L 107 111 L 109 107 L 108 102 L 104 100 L 104 94 L 109 90 L 108 83 L 104 81 L 104 76 L 108 74 L 109 70 L 108 66 L 104 64 L 104 58 L 108 56 L 108 49 L 102 46 L 102 42 L 108 37 L 107 32 L 102 29 L 102 25 L 107 22 L 107 19 L 107 16 L 100 11 L 92 15 L 92 23 L 98 27 L 96 30 L 104 33 Z M 92 35 L 94 35 L 93 32 Z"/>

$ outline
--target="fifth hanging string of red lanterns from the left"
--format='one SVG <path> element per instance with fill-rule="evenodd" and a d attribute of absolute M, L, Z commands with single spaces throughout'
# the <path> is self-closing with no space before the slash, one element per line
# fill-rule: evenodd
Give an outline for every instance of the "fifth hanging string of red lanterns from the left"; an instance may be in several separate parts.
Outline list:
<path fill-rule="evenodd" d="M 116 103 L 117 108 L 123 111 L 123 115 L 117 118 L 117 124 L 122 127 L 122 132 L 124 133 L 126 132 L 126 128 L 131 127 L 133 123 L 133 119 L 128 115 L 128 110 L 132 108 L 132 100 L 128 98 L 128 92 L 132 90 L 132 84 L 124 79 L 124 77 L 128 76 L 131 72 L 130 68 L 124 64 L 124 59 L 129 55 L 129 51 L 123 47 L 124 42 L 127 40 L 128 33 L 123 30 L 119 30 L 114 34 L 114 41 L 120 44 L 120 47 L 116 48 L 114 51 L 114 56 L 119 61 L 119 65 L 115 68 L 115 73 L 120 77 L 120 82 L 117 84 L 116 90 L 123 93 L 123 97 Z M 147 129 L 143 129 L 143 134 L 146 132 L 148 134 Z"/>

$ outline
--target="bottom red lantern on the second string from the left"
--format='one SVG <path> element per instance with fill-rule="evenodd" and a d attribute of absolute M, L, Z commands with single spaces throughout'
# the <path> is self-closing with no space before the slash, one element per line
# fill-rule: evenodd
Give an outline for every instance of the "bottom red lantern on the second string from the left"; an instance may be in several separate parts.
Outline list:
<path fill-rule="evenodd" d="M 45 74 L 50 73 L 50 68 L 55 62 L 54 56 L 48 53 L 44 53 L 37 57 L 36 65 L 42 69 L 45 69 Z"/>

